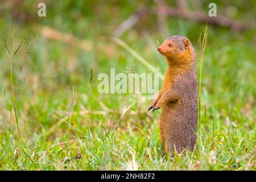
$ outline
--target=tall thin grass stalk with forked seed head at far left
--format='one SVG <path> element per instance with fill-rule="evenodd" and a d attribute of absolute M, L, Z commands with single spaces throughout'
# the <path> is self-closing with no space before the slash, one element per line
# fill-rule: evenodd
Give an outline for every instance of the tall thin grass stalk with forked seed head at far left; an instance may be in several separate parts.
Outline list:
<path fill-rule="evenodd" d="M 9 50 L 9 48 L 7 46 L 7 37 L 5 37 L 5 51 L 6 51 L 6 56 L 7 56 L 8 60 L 9 60 L 9 63 L 10 63 L 11 98 L 13 100 L 16 127 L 17 127 L 17 130 L 18 130 L 18 135 L 20 137 L 19 123 L 18 123 L 18 117 L 17 117 L 17 111 L 16 111 L 16 103 L 15 103 L 15 96 L 14 96 L 13 61 L 14 61 L 14 56 L 19 51 L 20 47 L 22 46 L 23 41 L 19 43 L 19 46 L 17 48 L 14 48 L 14 43 L 15 43 L 14 36 L 15 36 L 15 26 L 14 26 L 14 30 L 13 30 L 13 36 L 11 38 L 11 50 Z"/>

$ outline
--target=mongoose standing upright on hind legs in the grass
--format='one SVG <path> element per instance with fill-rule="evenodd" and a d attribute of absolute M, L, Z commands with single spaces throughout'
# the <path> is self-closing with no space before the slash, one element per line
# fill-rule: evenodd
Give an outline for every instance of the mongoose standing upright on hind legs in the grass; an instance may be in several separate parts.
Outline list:
<path fill-rule="evenodd" d="M 170 36 L 158 47 L 166 57 L 167 71 L 162 89 L 148 108 L 162 107 L 161 143 L 164 151 L 193 151 L 197 131 L 196 53 L 188 38 Z"/>

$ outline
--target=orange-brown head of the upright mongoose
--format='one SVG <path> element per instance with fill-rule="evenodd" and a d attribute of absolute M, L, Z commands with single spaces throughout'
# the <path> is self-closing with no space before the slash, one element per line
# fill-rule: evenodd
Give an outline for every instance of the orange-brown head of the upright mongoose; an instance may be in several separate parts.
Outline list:
<path fill-rule="evenodd" d="M 158 51 L 166 56 L 169 61 L 191 61 L 195 60 L 195 51 L 188 38 L 181 35 L 170 36 L 162 45 L 158 47 Z"/>

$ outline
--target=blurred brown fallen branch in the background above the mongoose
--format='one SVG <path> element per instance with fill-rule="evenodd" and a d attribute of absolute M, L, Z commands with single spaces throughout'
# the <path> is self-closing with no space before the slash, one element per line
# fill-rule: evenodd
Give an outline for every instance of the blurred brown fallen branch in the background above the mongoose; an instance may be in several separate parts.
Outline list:
<path fill-rule="evenodd" d="M 121 36 L 124 32 L 130 30 L 130 28 L 135 24 L 141 22 L 143 17 L 151 14 L 158 15 L 158 26 L 162 34 L 165 34 L 166 32 L 166 16 L 229 27 L 235 31 L 242 31 L 250 28 L 240 20 L 233 20 L 227 16 L 217 15 L 216 17 L 210 17 L 208 14 L 201 13 L 200 11 L 191 11 L 187 8 L 185 1 L 177 1 L 176 8 L 169 7 L 162 0 L 155 0 L 155 3 L 156 7 L 139 10 L 127 18 L 123 23 L 115 28 L 113 36 Z"/>

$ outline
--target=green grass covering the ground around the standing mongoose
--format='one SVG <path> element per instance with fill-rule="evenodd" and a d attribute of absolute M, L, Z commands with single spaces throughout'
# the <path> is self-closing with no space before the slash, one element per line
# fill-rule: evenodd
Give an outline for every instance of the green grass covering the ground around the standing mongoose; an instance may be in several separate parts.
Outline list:
<path fill-rule="evenodd" d="M 1 170 L 256 169 L 255 30 L 231 32 L 208 24 L 198 147 L 192 154 L 166 158 L 159 143 L 160 110 L 147 113 L 151 101 L 146 95 L 97 92 L 98 73 L 109 74 L 110 68 L 117 73 L 134 67 L 142 73 L 149 72 L 152 65 L 164 74 L 166 63 L 156 51 L 156 40 L 161 43 L 163 39 L 151 23 L 156 18 L 146 20 L 143 31 L 135 27 L 122 35 L 122 47 L 101 37 L 111 35 L 113 28 L 133 13 L 131 5 L 118 11 L 121 5 L 110 3 L 101 7 L 97 17 L 93 14 L 99 10 L 80 6 L 79 1 L 72 7 L 63 3 L 57 12 L 50 5 L 47 18 L 31 24 L 16 22 L 14 47 L 21 40 L 24 44 L 15 55 L 12 70 L 3 38 L 11 37 L 15 22 L 9 13 L 0 18 L 0 24 L 6 25 L 0 30 Z M 76 10 L 82 7 L 80 14 Z M 65 10 L 70 12 L 68 16 Z M 40 26 L 85 39 L 92 47 L 84 51 L 49 40 L 40 34 Z M 204 27 L 182 19 L 168 20 L 170 35 L 187 36 L 195 47 L 198 76 L 196 43 Z M 7 45 L 11 45 L 9 39 Z M 75 105 L 71 102 L 75 98 L 73 85 Z"/>

